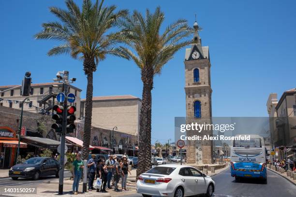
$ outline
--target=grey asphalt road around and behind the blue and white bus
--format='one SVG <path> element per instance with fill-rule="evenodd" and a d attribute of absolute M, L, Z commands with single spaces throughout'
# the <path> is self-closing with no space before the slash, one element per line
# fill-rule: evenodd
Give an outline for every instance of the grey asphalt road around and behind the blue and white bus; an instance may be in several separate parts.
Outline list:
<path fill-rule="evenodd" d="M 214 197 L 296 197 L 296 186 L 270 170 L 267 171 L 267 184 L 253 179 L 235 181 L 230 169 L 213 176 L 213 179 L 216 182 Z"/>

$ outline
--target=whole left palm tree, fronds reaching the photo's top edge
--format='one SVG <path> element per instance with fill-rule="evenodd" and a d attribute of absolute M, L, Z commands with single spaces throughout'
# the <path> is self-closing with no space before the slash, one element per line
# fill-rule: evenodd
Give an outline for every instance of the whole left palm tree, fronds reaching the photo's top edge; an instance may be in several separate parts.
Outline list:
<path fill-rule="evenodd" d="M 59 46 L 48 51 L 48 56 L 70 54 L 73 58 L 83 60 L 83 70 L 87 75 L 87 92 L 85 105 L 85 125 L 83 133 L 84 159 L 89 155 L 89 140 L 92 115 L 93 72 L 98 63 L 105 59 L 107 54 L 129 59 L 123 49 L 117 47 L 118 34 L 106 32 L 114 27 L 115 21 L 128 14 L 127 10 L 116 12 L 116 6 L 103 6 L 104 0 L 84 0 L 82 10 L 73 0 L 66 0 L 67 10 L 50 7 L 49 11 L 56 15 L 60 22 L 43 23 L 43 30 L 34 37 L 36 39 L 53 39 L 62 41 Z"/>

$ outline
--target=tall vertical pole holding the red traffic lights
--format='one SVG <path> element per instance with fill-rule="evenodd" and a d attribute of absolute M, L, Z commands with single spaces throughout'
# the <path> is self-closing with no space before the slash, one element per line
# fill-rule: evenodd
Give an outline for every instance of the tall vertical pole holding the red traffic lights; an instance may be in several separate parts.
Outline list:
<path fill-rule="evenodd" d="M 65 75 L 69 72 L 65 73 Z M 67 82 L 63 83 L 64 94 L 68 94 L 68 84 Z M 63 110 L 63 125 L 60 138 L 60 159 L 59 159 L 59 195 L 63 194 L 63 181 L 64 181 L 64 159 L 65 159 L 65 138 L 66 138 L 66 129 L 67 129 L 67 98 L 64 101 L 64 110 Z"/>

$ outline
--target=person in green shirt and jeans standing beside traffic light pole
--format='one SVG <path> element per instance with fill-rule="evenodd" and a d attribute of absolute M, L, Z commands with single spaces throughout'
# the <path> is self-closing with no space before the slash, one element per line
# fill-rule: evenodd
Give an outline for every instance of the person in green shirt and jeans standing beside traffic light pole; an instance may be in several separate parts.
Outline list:
<path fill-rule="evenodd" d="M 84 169 L 83 161 L 81 160 L 80 154 L 76 155 L 76 159 L 72 163 L 72 166 L 73 166 L 73 172 L 72 173 L 73 173 L 73 178 L 74 178 L 73 194 L 78 194 L 79 181 L 80 181 L 81 176 L 82 176 L 82 170 Z"/>

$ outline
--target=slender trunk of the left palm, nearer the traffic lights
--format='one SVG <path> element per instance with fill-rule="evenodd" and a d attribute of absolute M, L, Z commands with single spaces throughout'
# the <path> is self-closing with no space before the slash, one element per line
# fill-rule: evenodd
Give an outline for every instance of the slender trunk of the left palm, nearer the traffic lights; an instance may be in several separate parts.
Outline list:
<path fill-rule="evenodd" d="M 93 59 L 85 59 L 83 65 L 85 74 L 87 75 L 88 84 L 85 101 L 82 158 L 87 160 L 89 158 L 89 142 L 91 132 L 93 72 L 95 71 L 93 68 L 96 68 L 96 66 Z"/>

